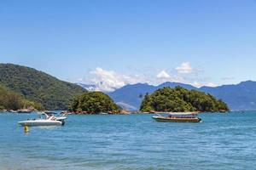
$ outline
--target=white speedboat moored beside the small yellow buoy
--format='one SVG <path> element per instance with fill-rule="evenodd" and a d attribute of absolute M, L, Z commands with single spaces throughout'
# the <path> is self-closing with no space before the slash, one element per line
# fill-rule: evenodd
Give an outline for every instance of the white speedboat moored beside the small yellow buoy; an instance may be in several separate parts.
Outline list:
<path fill-rule="evenodd" d="M 42 115 L 44 118 L 42 118 Z M 66 118 L 65 118 L 66 119 Z M 57 119 L 55 116 L 48 116 L 45 113 L 40 113 L 38 119 L 28 119 L 21 121 L 19 124 L 23 127 L 36 127 L 36 126 L 61 126 L 64 125 L 64 118 Z"/>

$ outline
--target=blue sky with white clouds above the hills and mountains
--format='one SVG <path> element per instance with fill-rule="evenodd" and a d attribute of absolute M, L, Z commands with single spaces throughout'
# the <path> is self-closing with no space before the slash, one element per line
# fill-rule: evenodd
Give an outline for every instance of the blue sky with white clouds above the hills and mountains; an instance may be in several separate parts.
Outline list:
<path fill-rule="evenodd" d="M 255 18 L 254 0 L 2 0 L 0 62 L 105 88 L 256 80 Z"/>

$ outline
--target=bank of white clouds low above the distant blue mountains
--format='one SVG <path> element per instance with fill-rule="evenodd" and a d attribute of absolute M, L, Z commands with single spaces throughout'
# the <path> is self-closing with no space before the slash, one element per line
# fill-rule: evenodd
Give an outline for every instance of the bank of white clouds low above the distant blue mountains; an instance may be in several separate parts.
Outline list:
<path fill-rule="evenodd" d="M 189 74 L 195 71 L 197 71 L 198 74 Z M 100 67 L 96 67 L 95 70 L 89 71 L 88 73 L 86 78 L 83 79 L 83 81 L 79 79 L 79 82 L 93 84 L 96 87 L 96 91 L 102 92 L 111 92 L 127 84 L 136 84 L 139 82 L 147 82 L 152 85 L 159 85 L 163 82 L 182 82 L 191 84 L 197 88 L 201 86 L 216 86 L 211 82 L 211 79 L 204 77 L 201 71 L 192 68 L 189 62 L 184 62 L 182 65 L 178 66 L 176 71 L 172 71 L 172 74 L 165 69 L 143 68 L 143 71 L 133 71 L 133 74 L 128 75 L 117 71 L 104 70 Z"/>

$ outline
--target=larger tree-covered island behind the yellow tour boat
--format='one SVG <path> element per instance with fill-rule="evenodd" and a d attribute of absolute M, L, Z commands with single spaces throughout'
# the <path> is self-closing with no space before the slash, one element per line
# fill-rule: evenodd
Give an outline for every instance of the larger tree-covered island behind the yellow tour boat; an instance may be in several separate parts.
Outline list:
<path fill-rule="evenodd" d="M 227 104 L 211 94 L 186 88 L 160 88 L 153 94 L 144 96 L 140 107 L 142 112 L 225 112 L 230 111 Z"/>

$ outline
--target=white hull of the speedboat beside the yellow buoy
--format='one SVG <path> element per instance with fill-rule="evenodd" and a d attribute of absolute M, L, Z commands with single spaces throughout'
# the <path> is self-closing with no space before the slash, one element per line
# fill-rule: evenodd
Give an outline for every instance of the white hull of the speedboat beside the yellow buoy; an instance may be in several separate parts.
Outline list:
<path fill-rule="evenodd" d="M 38 126 L 61 126 L 64 122 L 52 120 L 28 120 L 19 122 L 22 127 L 38 127 Z"/>

